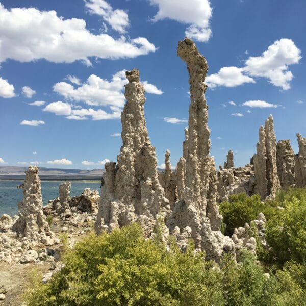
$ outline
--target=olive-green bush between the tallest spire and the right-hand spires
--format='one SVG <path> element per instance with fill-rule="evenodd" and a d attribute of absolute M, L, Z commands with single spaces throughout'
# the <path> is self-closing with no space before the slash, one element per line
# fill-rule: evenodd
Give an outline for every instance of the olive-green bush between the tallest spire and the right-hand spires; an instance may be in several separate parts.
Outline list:
<path fill-rule="evenodd" d="M 235 228 L 244 227 L 245 222 L 256 219 L 259 213 L 264 213 L 267 219 L 278 214 L 274 202 L 261 202 L 258 194 L 248 196 L 245 193 L 230 196 L 229 202 L 222 202 L 219 206 L 223 216 L 224 234 L 232 236 Z"/>

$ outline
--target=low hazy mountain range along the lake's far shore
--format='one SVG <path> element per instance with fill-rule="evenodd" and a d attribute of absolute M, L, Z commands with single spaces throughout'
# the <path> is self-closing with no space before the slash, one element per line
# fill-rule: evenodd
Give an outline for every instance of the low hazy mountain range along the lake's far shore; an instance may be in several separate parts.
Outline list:
<path fill-rule="evenodd" d="M 0 180 L 24 179 L 28 167 L 0 166 Z M 104 169 L 81 170 L 39 167 L 38 174 L 42 180 L 100 180 Z"/>

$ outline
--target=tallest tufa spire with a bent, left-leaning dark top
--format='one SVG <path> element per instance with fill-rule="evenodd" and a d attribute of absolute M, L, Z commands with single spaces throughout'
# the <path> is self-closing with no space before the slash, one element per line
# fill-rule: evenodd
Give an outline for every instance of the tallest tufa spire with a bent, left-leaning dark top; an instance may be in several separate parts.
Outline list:
<path fill-rule="evenodd" d="M 218 191 L 215 163 L 213 157 L 209 156 L 210 130 L 204 95 L 208 65 L 188 38 L 179 42 L 177 55 L 187 64 L 191 103 L 183 157 L 177 164 L 177 192 L 180 200 L 175 203 L 167 225 L 170 233 L 174 232 L 178 239 L 183 233 L 184 237 L 192 237 L 196 248 L 205 250 L 207 258 L 218 261 L 223 251 L 235 250 L 233 241 L 217 231 L 222 216 L 216 203 Z"/>

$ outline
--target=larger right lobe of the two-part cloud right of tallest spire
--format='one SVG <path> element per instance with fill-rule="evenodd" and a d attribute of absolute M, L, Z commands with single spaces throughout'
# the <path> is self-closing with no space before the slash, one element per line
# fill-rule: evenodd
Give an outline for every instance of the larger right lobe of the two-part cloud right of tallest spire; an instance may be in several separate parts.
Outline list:
<path fill-rule="evenodd" d="M 299 62 L 300 53 L 291 39 L 282 38 L 270 45 L 261 56 L 249 57 L 243 70 L 251 77 L 267 78 L 271 84 L 286 90 L 293 78 L 288 66 Z"/>

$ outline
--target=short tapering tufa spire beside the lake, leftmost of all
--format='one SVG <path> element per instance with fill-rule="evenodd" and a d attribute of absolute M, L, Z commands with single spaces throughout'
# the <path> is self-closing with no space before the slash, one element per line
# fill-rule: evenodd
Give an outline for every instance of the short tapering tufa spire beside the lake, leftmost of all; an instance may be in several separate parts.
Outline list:
<path fill-rule="evenodd" d="M 42 211 L 42 197 L 38 167 L 30 166 L 25 171 L 23 200 L 18 203 L 19 218 L 14 223 L 12 231 L 23 242 L 37 242 L 46 245 L 53 244 L 53 233 Z"/>

